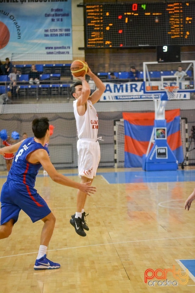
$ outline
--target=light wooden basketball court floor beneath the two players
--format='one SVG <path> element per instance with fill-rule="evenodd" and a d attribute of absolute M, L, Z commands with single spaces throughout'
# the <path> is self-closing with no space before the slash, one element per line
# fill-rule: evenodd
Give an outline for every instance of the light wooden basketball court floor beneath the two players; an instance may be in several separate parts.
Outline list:
<path fill-rule="evenodd" d="M 0 241 L 0 293 L 195 292 L 192 274 L 181 284 L 186 271 L 178 263 L 195 258 L 195 202 L 190 211 L 183 208 L 195 187 L 193 177 L 172 182 L 163 182 L 161 176 L 156 182 L 137 177 L 132 183 L 109 183 L 102 175 L 111 173 L 114 178 L 124 170 L 98 169 L 93 183 L 97 192 L 88 197 L 85 209 L 90 228 L 86 237 L 77 235 L 69 223 L 76 190 L 54 183 L 40 171 L 35 187 L 56 217 L 47 256 L 61 268 L 33 269 L 42 222 L 33 224 L 20 212 L 12 235 Z M 134 170 L 125 171 L 133 178 Z M 60 172 L 79 181 L 77 170 Z M 0 186 L 5 174 L 0 172 Z M 169 283 L 162 285 L 165 280 Z"/>

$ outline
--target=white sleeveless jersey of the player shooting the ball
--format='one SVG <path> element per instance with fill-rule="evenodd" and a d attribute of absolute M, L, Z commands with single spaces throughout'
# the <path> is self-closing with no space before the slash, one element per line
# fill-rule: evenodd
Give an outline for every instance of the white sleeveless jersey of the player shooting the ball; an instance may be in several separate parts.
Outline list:
<path fill-rule="evenodd" d="M 77 100 L 73 102 L 74 116 L 78 138 L 97 139 L 98 137 L 98 114 L 91 101 L 87 100 L 87 110 L 83 116 L 77 112 Z"/>

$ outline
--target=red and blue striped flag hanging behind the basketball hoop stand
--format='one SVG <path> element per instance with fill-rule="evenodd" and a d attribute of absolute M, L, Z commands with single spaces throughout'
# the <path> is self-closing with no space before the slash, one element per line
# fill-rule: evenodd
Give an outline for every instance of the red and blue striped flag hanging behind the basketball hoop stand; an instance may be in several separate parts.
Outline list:
<path fill-rule="evenodd" d="M 125 168 L 142 167 L 142 156 L 146 154 L 154 128 L 154 112 L 122 113 L 125 128 Z M 167 143 L 178 163 L 183 162 L 180 134 L 180 109 L 165 111 Z M 152 147 L 152 145 L 151 145 Z"/>

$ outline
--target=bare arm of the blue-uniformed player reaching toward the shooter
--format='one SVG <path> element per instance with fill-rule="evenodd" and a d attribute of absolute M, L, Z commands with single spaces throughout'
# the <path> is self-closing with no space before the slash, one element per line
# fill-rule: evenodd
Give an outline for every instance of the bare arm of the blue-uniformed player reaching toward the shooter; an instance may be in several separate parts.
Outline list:
<path fill-rule="evenodd" d="M 68 177 L 58 173 L 54 167 L 54 165 L 51 163 L 50 158 L 48 156 L 48 153 L 46 150 L 37 150 L 34 152 L 34 158 L 36 156 L 37 161 L 41 163 L 44 170 L 48 172 L 48 175 L 51 177 L 53 181 L 56 183 L 66 185 L 69 187 L 77 188 L 80 191 L 86 193 L 87 195 L 94 194 L 96 192 L 96 187 L 89 186 L 90 182 L 88 183 L 78 183 L 75 182 Z"/>

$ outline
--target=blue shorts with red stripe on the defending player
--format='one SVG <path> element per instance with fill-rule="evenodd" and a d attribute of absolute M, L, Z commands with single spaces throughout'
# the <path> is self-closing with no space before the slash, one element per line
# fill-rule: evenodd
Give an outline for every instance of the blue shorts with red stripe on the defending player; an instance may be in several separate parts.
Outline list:
<path fill-rule="evenodd" d="M 37 190 L 15 181 L 6 181 L 1 191 L 1 225 L 10 219 L 17 222 L 19 212 L 23 210 L 36 222 L 51 213 L 47 203 Z"/>

